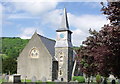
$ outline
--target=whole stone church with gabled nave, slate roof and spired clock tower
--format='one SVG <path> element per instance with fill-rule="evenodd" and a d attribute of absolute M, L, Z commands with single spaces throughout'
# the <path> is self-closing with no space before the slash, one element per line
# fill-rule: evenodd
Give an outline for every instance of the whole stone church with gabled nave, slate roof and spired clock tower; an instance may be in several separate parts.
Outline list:
<path fill-rule="evenodd" d="M 18 57 L 17 74 L 22 78 L 46 81 L 68 82 L 74 72 L 74 51 L 72 49 L 71 34 L 67 12 L 64 13 L 60 27 L 56 30 L 56 41 L 33 34 L 28 44 Z"/>

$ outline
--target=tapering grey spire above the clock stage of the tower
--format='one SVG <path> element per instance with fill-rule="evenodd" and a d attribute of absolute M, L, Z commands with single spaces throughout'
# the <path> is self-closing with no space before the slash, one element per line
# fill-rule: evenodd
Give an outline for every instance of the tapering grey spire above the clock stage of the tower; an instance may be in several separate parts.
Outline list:
<path fill-rule="evenodd" d="M 60 25 L 60 29 L 62 29 L 62 30 L 69 30 L 69 24 L 68 24 L 66 8 L 64 8 L 64 13 L 63 13 L 61 21 L 62 22 L 61 22 L 61 25 Z"/>

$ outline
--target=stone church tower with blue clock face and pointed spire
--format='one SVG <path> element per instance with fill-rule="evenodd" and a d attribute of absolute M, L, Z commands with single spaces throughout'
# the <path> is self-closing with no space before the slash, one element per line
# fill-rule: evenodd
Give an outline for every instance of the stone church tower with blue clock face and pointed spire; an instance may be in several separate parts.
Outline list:
<path fill-rule="evenodd" d="M 64 8 L 60 28 L 56 30 L 57 38 L 55 44 L 55 56 L 58 60 L 58 80 L 68 82 L 71 80 L 73 67 L 73 50 L 71 34 Z"/>

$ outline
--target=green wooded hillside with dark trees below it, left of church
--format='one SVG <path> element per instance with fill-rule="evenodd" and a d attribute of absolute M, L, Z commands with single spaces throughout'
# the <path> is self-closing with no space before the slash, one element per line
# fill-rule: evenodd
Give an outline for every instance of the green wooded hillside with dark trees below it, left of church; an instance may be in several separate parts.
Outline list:
<path fill-rule="evenodd" d="M 0 49 L 0 52 L 2 53 L 0 54 L 0 57 L 2 57 L 3 73 L 16 73 L 16 59 L 28 41 L 28 39 L 21 39 L 19 37 L 2 37 L 0 39 L 0 44 L 2 44 L 2 49 Z"/>

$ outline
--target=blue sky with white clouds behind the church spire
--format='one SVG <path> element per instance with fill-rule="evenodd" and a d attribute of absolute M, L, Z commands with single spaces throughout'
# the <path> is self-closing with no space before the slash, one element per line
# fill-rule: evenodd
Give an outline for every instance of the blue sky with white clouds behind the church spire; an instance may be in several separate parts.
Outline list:
<path fill-rule="evenodd" d="M 30 39 L 37 30 L 38 34 L 55 40 L 64 8 L 67 9 L 74 46 L 82 44 L 82 41 L 89 36 L 90 28 L 99 31 L 108 23 L 100 11 L 102 8 L 100 2 L 38 1 L 1 2 L 2 37 Z"/>

